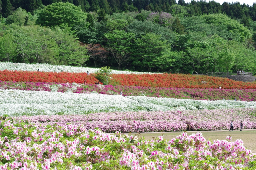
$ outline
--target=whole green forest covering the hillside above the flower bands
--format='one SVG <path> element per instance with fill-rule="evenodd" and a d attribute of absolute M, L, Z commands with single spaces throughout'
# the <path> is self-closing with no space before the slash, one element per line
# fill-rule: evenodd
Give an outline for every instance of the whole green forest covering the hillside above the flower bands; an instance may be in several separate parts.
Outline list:
<path fill-rule="evenodd" d="M 3 62 L 256 74 L 256 3 L 0 0 L 0 10 Z"/>

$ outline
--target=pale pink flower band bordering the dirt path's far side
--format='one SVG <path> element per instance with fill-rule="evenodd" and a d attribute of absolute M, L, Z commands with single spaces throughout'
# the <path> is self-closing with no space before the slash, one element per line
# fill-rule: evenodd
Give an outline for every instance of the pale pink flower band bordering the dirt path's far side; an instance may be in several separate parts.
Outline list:
<path fill-rule="evenodd" d="M 228 115 L 228 116 L 226 116 Z M 20 116 L 37 125 L 83 124 L 86 128 L 100 128 L 103 132 L 159 132 L 184 130 L 228 130 L 233 120 L 234 129 L 256 128 L 256 108 L 155 111 L 155 112 L 113 112 L 87 115 L 44 115 Z"/>

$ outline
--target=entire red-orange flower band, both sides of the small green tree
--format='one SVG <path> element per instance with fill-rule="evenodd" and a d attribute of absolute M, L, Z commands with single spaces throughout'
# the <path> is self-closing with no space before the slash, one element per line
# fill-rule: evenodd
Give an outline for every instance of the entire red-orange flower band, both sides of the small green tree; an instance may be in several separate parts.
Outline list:
<path fill-rule="evenodd" d="M 93 77 L 94 76 L 94 77 Z M 172 88 L 219 88 L 256 89 L 255 82 L 234 81 L 228 78 L 195 76 L 184 74 L 111 74 L 109 84 L 113 86 L 172 87 Z M 1 81 L 58 82 L 94 84 L 96 74 L 86 72 L 41 72 L 0 70 Z"/>

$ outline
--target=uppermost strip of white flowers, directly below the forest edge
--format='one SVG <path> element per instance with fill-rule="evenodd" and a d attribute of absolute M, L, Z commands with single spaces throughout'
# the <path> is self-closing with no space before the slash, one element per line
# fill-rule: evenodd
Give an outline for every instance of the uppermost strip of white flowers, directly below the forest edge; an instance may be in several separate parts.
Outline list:
<path fill-rule="evenodd" d="M 97 72 L 98 68 L 90 67 L 74 67 L 74 66 L 58 66 L 50 64 L 25 64 L 25 63 L 8 63 L 0 62 L 0 70 L 23 70 L 23 71 L 46 71 L 46 72 Z M 120 71 L 112 70 L 113 74 L 155 74 L 151 72 L 136 72 L 136 71 Z"/>

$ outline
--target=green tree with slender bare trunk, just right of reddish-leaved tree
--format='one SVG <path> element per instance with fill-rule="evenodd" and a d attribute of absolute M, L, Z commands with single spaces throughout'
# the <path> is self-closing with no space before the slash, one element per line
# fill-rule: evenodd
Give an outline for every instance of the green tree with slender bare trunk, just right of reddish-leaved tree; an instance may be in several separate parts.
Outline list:
<path fill-rule="evenodd" d="M 121 64 L 130 58 L 135 34 L 126 33 L 124 30 L 114 30 L 104 35 L 107 39 L 108 50 L 118 63 L 118 69 L 121 69 Z"/>

